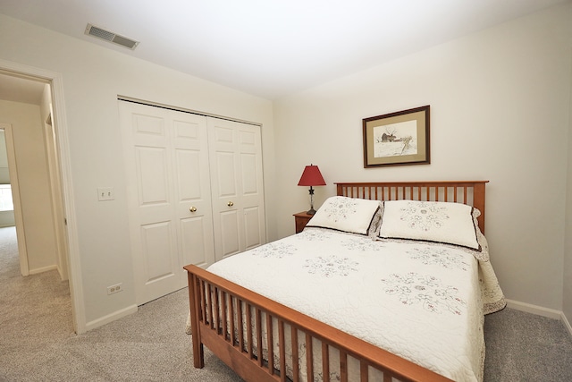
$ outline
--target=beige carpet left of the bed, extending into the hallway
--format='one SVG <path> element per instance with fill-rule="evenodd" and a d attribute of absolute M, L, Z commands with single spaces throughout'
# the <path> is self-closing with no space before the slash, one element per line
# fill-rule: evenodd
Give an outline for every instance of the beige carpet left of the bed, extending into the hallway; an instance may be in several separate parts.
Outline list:
<path fill-rule="evenodd" d="M 0 381 L 240 381 L 207 350 L 192 366 L 188 306 L 183 289 L 75 335 L 68 283 L 22 277 L 15 232 L 0 228 Z"/>

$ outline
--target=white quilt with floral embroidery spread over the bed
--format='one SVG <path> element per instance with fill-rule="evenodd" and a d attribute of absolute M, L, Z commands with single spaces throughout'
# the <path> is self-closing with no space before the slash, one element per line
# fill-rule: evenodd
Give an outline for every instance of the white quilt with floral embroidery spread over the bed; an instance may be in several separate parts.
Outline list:
<path fill-rule="evenodd" d="M 479 258 L 306 228 L 208 270 L 445 377 L 482 381 L 484 313 L 504 301 L 488 253 Z"/>

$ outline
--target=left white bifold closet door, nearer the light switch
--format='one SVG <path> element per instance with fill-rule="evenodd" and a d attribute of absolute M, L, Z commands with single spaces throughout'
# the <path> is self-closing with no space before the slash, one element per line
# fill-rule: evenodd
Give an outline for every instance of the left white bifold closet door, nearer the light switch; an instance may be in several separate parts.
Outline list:
<path fill-rule="evenodd" d="M 206 117 L 120 101 L 138 305 L 214 262 Z"/>

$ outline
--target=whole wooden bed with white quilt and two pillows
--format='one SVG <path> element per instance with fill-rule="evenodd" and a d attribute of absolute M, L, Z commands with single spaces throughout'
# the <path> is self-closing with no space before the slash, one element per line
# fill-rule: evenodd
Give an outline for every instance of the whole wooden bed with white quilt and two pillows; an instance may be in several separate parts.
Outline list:
<path fill-rule="evenodd" d="M 505 306 L 486 183 L 336 183 L 302 233 L 184 267 L 194 366 L 206 346 L 247 381 L 481 381 Z"/>

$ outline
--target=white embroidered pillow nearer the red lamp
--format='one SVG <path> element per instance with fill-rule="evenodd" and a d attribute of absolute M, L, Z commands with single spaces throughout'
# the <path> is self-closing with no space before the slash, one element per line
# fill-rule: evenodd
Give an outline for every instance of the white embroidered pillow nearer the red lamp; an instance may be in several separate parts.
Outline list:
<path fill-rule="evenodd" d="M 378 219 L 374 217 L 381 206 L 379 200 L 332 196 L 324 201 L 306 226 L 368 234 L 370 227 L 376 229 Z"/>

